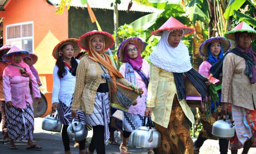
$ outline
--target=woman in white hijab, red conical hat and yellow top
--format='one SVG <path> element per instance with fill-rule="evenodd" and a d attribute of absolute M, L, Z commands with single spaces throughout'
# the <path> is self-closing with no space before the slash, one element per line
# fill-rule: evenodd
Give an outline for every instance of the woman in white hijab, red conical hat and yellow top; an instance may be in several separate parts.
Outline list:
<path fill-rule="evenodd" d="M 150 82 L 145 116 L 152 114 L 155 128 L 162 134 L 159 148 L 154 153 L 193 153 L 190 122 L 194 115 L 186 103 L 183 73 L 205 98 L 210 81 L 192 68 L 183 35 L 194 31 L 173 17 L 151 34 L 161 36 L 151 53 Z"/>

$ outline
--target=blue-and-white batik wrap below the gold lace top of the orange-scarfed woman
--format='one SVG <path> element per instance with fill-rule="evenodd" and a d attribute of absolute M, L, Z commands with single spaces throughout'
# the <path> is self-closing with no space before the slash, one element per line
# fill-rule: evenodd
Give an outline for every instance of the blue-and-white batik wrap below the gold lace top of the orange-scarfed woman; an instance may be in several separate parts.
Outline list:
<path fill-rule="evenodd" d="M 94 102 L 93 114 L 84 113 L 85 123 L 88 125 L 103 125 L 104 126 L 104 142 L 108 144 L 110 138 L 108 123 L 110 111 L 110 98 L 108 92 L 97 92 Z M 101 142 L 101 141 L 100 141 Z"/>

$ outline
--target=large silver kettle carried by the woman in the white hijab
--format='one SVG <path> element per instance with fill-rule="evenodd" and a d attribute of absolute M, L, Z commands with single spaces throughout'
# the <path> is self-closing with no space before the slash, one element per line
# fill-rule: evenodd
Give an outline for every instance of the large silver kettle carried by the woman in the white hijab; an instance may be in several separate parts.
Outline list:
<path fill-rule="evenodd" d="M 145 125 L 146 117 L 144 117 L 143 126 L 135 129 L 131 134 L 131 143 L 137 147 L 158 148 L 161 143 L 161 134 L 155 128 L 152 128 L 151 117 Z"/>

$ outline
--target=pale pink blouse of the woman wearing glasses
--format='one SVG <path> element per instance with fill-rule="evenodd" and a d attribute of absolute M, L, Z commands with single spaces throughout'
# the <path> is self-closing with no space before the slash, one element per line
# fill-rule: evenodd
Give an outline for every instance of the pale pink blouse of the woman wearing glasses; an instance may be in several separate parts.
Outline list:
<path fill-rule="evenodd" d="M 125 64 L 124 63 L 121 67 L 120 67 L 120 73 L 125 76 Z M 149 75 L 149 65 L 148 65 L 148 62 L 146 60 L 143 59 L 143 63 L 142 63 L 142 67 L 141 67 L 141 70 L 145 73 L 145 75 L 149 78 L 150 75 Z M 136 76 L 136 79 L 137 79 L 137 86 L 142 88 L 143 90 L 143 94 L 142 94 L 142 97 L 138 97 L 137 98 L 137 102 L 138 104 L 136 106 L 130 106 L 129 110 L 128 110 L 128 113 L 132 113 L 132 114 L 139 114 L 141 116 L 144 116 L 144 112 L 145 112 L 145 109 L 146 109 L 146 102 L 147 102 L 147 87 L 146 85 L 144 84 L 142 78 L 140 77 L 140 75 L 134 71 L 135 73 L 135 76 Z"/>

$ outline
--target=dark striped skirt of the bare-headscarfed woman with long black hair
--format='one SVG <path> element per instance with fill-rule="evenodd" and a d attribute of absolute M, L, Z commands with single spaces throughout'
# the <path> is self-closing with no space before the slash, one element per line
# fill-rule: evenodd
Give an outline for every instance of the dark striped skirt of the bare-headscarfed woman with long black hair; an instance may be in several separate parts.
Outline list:
<path fill-rule="evenodd" d="M 73 98 L 72 98 L 72 100 L 73 100 Z M 63 125 L 69 125 L 72 123 L 73 118 L 71 115 L 71 107 L 72 107 L 72 102 L 70 103 L 70 106 L 66 106 L 64 103 L 62 103 L 59 100 L 59 104 L 57 106 L 58 117 Z M 81 110 L 78 110 L 78 111 L 76 111 L 76 114 L 79 115 L 81 122 L 84 123 L 83 112 Z M 76 118 L 75 121 L 78 121 L 78 119 Z"/>

